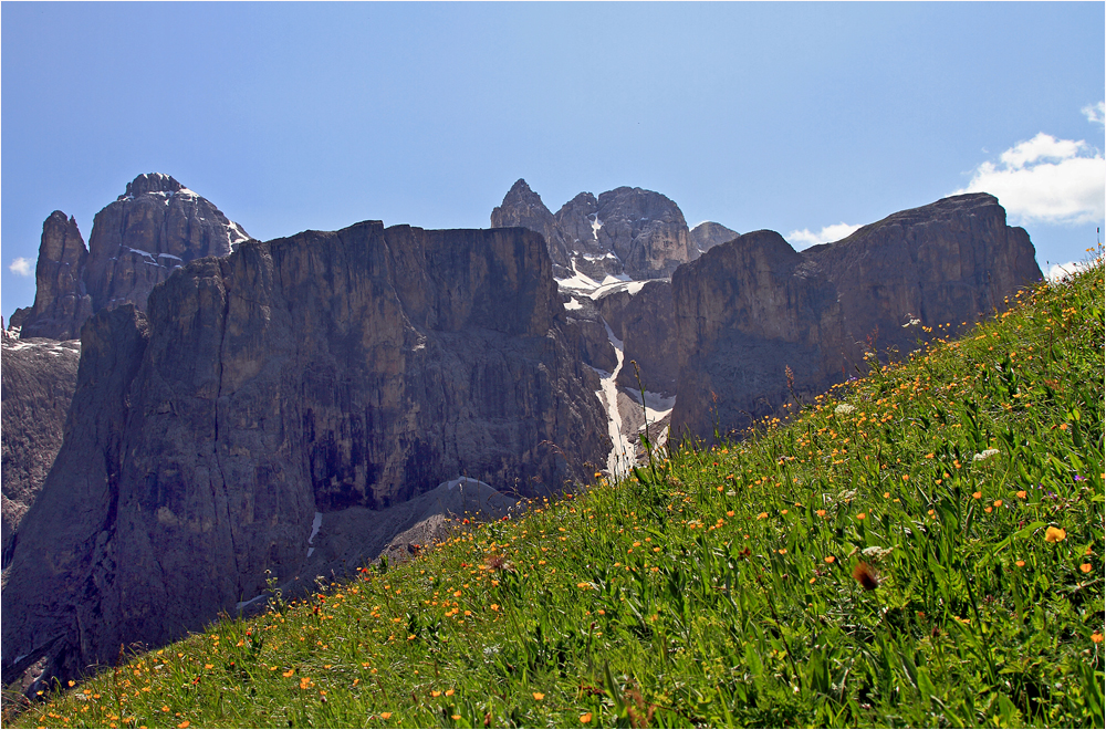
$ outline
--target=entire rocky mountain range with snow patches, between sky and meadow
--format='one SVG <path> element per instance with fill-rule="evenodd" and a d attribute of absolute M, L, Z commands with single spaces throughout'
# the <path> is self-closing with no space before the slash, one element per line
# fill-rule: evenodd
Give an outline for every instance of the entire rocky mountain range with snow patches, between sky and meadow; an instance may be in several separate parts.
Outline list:
<path fill-rule="evenodd" d="M 640 188 L 552 213 L 524 180 L 487 230 L 262 242 L 138 176 L 88 249 L 46 219 L 3 341 L 4 685 L 625 473 L 644 429 L 739 432 L 1040 278 L 985 194 L 805 251 Z"/>

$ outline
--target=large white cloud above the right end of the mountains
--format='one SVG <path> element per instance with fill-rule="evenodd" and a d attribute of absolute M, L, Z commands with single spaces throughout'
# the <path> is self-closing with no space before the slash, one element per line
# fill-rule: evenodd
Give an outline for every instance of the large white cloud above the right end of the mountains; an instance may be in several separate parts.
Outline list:
<path fill-rule="evenodd" d="M 975 168 L 952 195 L 990 192 L 1019 223 L 1091 223 L 1106 216 L 1106 159 L 1082 139 L 1043 132 Z"/>

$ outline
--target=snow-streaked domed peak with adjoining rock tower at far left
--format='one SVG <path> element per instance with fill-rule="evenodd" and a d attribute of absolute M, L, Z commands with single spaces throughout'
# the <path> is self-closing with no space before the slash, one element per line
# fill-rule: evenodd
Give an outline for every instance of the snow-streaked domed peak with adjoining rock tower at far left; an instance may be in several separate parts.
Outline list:
<path fill-rule="evenodd" d="M 42 227 L 34 305 L 12 315 L 22 336 L 70 340 L 94 312 L 132 303 L 177 268 L 228 255 L 249 236 L 205 198 L 168 175 L 139 175 L 96 213 L 90 248 L 76 222 L 54 211 Z"/>

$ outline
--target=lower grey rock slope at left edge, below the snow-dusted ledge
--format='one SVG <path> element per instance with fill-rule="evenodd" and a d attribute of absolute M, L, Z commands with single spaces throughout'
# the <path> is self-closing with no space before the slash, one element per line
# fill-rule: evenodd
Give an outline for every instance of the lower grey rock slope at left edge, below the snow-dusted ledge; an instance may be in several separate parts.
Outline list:
<path fill-rule="evenodd" d="M 15 340 L 0 331 L 0 451 L 3 474 L 2 565 L 8 567 L 20 522 L 34 503 L 62 446 L 76 387 L 81 342 Z"/>

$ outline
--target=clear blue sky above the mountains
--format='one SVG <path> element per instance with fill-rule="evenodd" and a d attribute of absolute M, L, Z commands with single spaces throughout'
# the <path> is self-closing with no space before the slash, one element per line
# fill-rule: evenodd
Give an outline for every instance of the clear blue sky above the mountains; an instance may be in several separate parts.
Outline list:
<path fill-rule="evenodd" d="M 482 228 L 524 177 L 554 211 L 639 186 L 803 247 L 990 189 L 1042 268 L 1076 260 L 1104 27 L 1102 2 L 4 2 L 2 313 L 51 211 L 87 241 L 150 171 L 260 239 Z"/>

